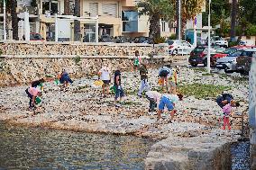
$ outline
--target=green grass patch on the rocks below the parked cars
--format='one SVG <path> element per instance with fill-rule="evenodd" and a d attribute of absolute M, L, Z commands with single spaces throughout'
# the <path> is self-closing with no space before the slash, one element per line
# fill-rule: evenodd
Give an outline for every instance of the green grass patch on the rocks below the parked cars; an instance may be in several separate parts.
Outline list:
<path fill-rule="evenodd" d="M 231 90 L 230 86 L 190 84 L 178 86 L 178 91 L 187 96 L 195 96 L 197 99 L 215 98 L 224 91 Z"/>

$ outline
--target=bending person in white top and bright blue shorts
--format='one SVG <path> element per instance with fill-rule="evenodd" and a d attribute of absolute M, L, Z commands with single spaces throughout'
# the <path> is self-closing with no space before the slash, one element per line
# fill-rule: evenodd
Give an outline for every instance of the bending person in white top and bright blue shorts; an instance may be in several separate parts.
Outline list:
<path fill-rule="evenodd" d="M 158 111 L 158 121 L 160 120 L 160 114 L 164 111 L 164 107 L 166 106 L 169 114 L 170 121 L 173 120 L 174 114 L 177 110 L 174 109 L 175 103 L 181 101 L 183 98 L 182 94 L 162 94 L 160 98 L 159 111 Z"/>

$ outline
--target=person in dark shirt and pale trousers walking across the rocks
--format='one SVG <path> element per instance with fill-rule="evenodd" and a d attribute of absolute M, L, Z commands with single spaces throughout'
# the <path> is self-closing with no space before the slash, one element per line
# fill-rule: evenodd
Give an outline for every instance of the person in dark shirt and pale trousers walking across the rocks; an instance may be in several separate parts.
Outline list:
<path fill-rule="evenodd" d="M 141 87 L 140 90 L 138 92 L 138 96 L 142 97 L 142 92 L 145 90 L 146 92 L 148 92 L 150 90 L 150 85 L 148 83 L 148 69 L 146 66 L 146 63 L 143 61 L 142 65 L 140 67 L 140 75 L 141 75 Z"/>

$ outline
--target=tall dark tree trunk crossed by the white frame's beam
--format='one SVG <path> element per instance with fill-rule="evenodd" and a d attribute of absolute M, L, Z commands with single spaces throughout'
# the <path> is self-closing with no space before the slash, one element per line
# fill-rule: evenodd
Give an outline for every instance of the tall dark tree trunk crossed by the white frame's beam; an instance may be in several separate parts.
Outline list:
<path fill-rule="evenodd" d="M 80 16 L 80 0 L 75 0 L 75 12 L 74 16 Z M 74 41 L 81 40 L 81 29 L 80 29 L 80 21 L 74 21 Z"/>

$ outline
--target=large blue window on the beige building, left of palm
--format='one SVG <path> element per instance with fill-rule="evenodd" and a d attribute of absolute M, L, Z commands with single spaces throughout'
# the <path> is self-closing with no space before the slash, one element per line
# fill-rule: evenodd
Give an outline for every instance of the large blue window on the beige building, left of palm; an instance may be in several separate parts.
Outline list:
<path fill-rule="evenodd" d="M 122 12 L 123 31 L 137 32 L 138 31 L 138 13 L 136 11 Z"/>

